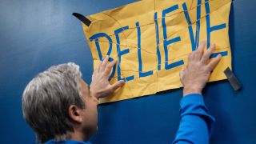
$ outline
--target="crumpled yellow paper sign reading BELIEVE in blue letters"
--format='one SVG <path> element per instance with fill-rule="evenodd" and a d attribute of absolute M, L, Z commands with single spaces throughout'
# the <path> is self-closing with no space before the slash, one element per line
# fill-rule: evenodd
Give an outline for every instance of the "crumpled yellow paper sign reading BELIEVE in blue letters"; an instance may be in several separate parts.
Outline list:
<path fill-rule="evenodd" d="M 106 55 L 117 60 L 110 83 L 125 86 L 100 103 L 155 94 L 179 88 L 179 71 L 198 42 L 216 44 L 211 58 L 222 54 L 210 82 L 225 79 L 231 67 L 228 35 L 230 0 L 145 0 L 92 14 L 90 26 L 82 25 L 94 67 Z"/>

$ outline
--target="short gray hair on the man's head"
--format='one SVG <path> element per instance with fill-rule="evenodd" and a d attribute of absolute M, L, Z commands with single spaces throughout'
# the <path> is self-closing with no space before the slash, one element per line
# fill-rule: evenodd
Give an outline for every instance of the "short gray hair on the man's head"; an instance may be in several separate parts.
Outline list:
<path fill-rule="evenodd" d="M 70 105 L 85 108 L 79 79 L 79 66 L 69 62 L 51 66 L 33 78 L 22 95 L 22 111 L 38 142 L 63 141 L 73 131 Z"/>

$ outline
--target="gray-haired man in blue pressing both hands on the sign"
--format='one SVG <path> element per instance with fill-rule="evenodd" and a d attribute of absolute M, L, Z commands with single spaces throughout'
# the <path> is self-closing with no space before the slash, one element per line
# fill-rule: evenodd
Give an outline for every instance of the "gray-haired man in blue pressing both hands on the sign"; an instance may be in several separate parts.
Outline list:
<path fill-rule="evenodd" d="M 215 46 L 204 53 L 206 42 L 190 54 L 180 72 L 183 88 L 180 126 L 174 143 L 208 143 L 214 118 L 207 114 L 202 89 L 221 56 L 209 60 Z M 116 61 L 109 57 L 94 70 L 90 86 L 82 80 L 79 66 L 52 66 L 26 86 L 22 96 L 23 117 L 35 131 L 38 142 L 90 143 L 97 131 L 98 98 L 104 98 L 125 84 L 110 85 L 108 78 Z"/>

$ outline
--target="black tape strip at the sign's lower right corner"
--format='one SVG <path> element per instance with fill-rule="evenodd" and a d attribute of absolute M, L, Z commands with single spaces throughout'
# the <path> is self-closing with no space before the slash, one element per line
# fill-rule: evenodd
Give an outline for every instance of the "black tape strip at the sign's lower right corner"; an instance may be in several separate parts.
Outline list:
<path fill-rule="evenodd" d="M 235 77 L 234 73 L 230 70 L 229 67 L 224 70 L 224 74 L 226 75 L 226 78 L 230 81 L 230 84 L 234 88 L 234 90 L 241 89 L 241 83 L 238 81 L 238 78 Z"/>

